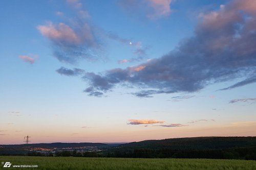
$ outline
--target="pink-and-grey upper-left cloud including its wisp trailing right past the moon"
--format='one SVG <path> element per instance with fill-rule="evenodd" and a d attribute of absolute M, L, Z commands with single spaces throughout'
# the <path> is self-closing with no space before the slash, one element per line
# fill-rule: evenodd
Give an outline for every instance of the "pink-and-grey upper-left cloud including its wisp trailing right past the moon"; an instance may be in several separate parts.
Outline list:
<path fill-rule="evenodd" d="M 83 10 L 79 0 L 67 0 L 67 3 L 73 7 L 75 16 L 66 16 L 62 22 L 48 21 L 37 27 L 41 35 L 49 40 L 53 56 L 59 61 L 76 64 L 80 60 L 103 60 L 108 45 L 106 39 L 133 46 L 137 57 L 129 61 L 140 61 L 146 56 L 148 47 L 143 47 L 140 41 L 133 42 L 94 25 L 89 11 Z M 62 16 L 63 13 L 57 12 L 57 15 Z"/>

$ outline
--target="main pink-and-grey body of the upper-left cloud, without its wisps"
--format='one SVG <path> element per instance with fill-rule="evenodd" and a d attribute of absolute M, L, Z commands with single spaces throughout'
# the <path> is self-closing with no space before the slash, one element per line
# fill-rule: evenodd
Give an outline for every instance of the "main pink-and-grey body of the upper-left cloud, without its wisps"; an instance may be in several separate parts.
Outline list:
<path fill-rule="evenodd" d="M 50 40 L 53 54 L 61 62 L 73 64 L 81 59 L 96 60 L 102 52 L 95 30 L 85 21 L 75 20 L 70 25 L 48 22 L 37 29 Z"/>

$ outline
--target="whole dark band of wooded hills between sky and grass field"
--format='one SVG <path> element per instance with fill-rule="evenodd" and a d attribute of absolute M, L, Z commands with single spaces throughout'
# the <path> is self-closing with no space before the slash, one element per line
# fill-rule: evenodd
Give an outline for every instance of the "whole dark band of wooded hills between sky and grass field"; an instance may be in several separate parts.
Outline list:
<path fill-rule="evenodd" d="M 53 149 L 55 156 L 120 158 L 207 158 L 256 160 L 256 137 L 190 137 L 119 143 L 33 143 L 30 147 Z M 3 148 L 4 147 L 4 148 Z M 0 145 L 0 155 L 24 155 L 25 144 Z M 98 147 L 99 152 L 74 153 L 62 148 Z M 89 148 L 91 149 L 91 148 Z M 30 152 L 30 156 L 49 156 Z M 52 154 L 53 156 L 53 154 Z"/>

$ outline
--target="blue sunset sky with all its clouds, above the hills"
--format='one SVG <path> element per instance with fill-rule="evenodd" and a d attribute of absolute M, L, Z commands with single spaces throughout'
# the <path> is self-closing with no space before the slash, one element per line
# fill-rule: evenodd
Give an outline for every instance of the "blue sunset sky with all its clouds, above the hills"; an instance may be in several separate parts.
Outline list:
<path fill-rule="evenodd" d="M 0 1 L 0 144 L 256 135 L 256 1 Z"/>

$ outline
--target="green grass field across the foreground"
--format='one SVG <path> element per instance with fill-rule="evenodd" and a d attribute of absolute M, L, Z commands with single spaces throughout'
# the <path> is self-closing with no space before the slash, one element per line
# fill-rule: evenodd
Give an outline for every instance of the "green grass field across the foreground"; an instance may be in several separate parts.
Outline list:
<path fill-rule="evenodd" d="M 10 162 L 11 167 L 3 167 Z M 254 170 L 256 161 L 216 159 L 140 159 L 140 158 L 78 158 L 78 157 L 25 157 L 0 156 L 0 169 L 187 169 L 187 170 Z M 37 168 L 14 168 L 13 165 L 38 165 Z"/>

